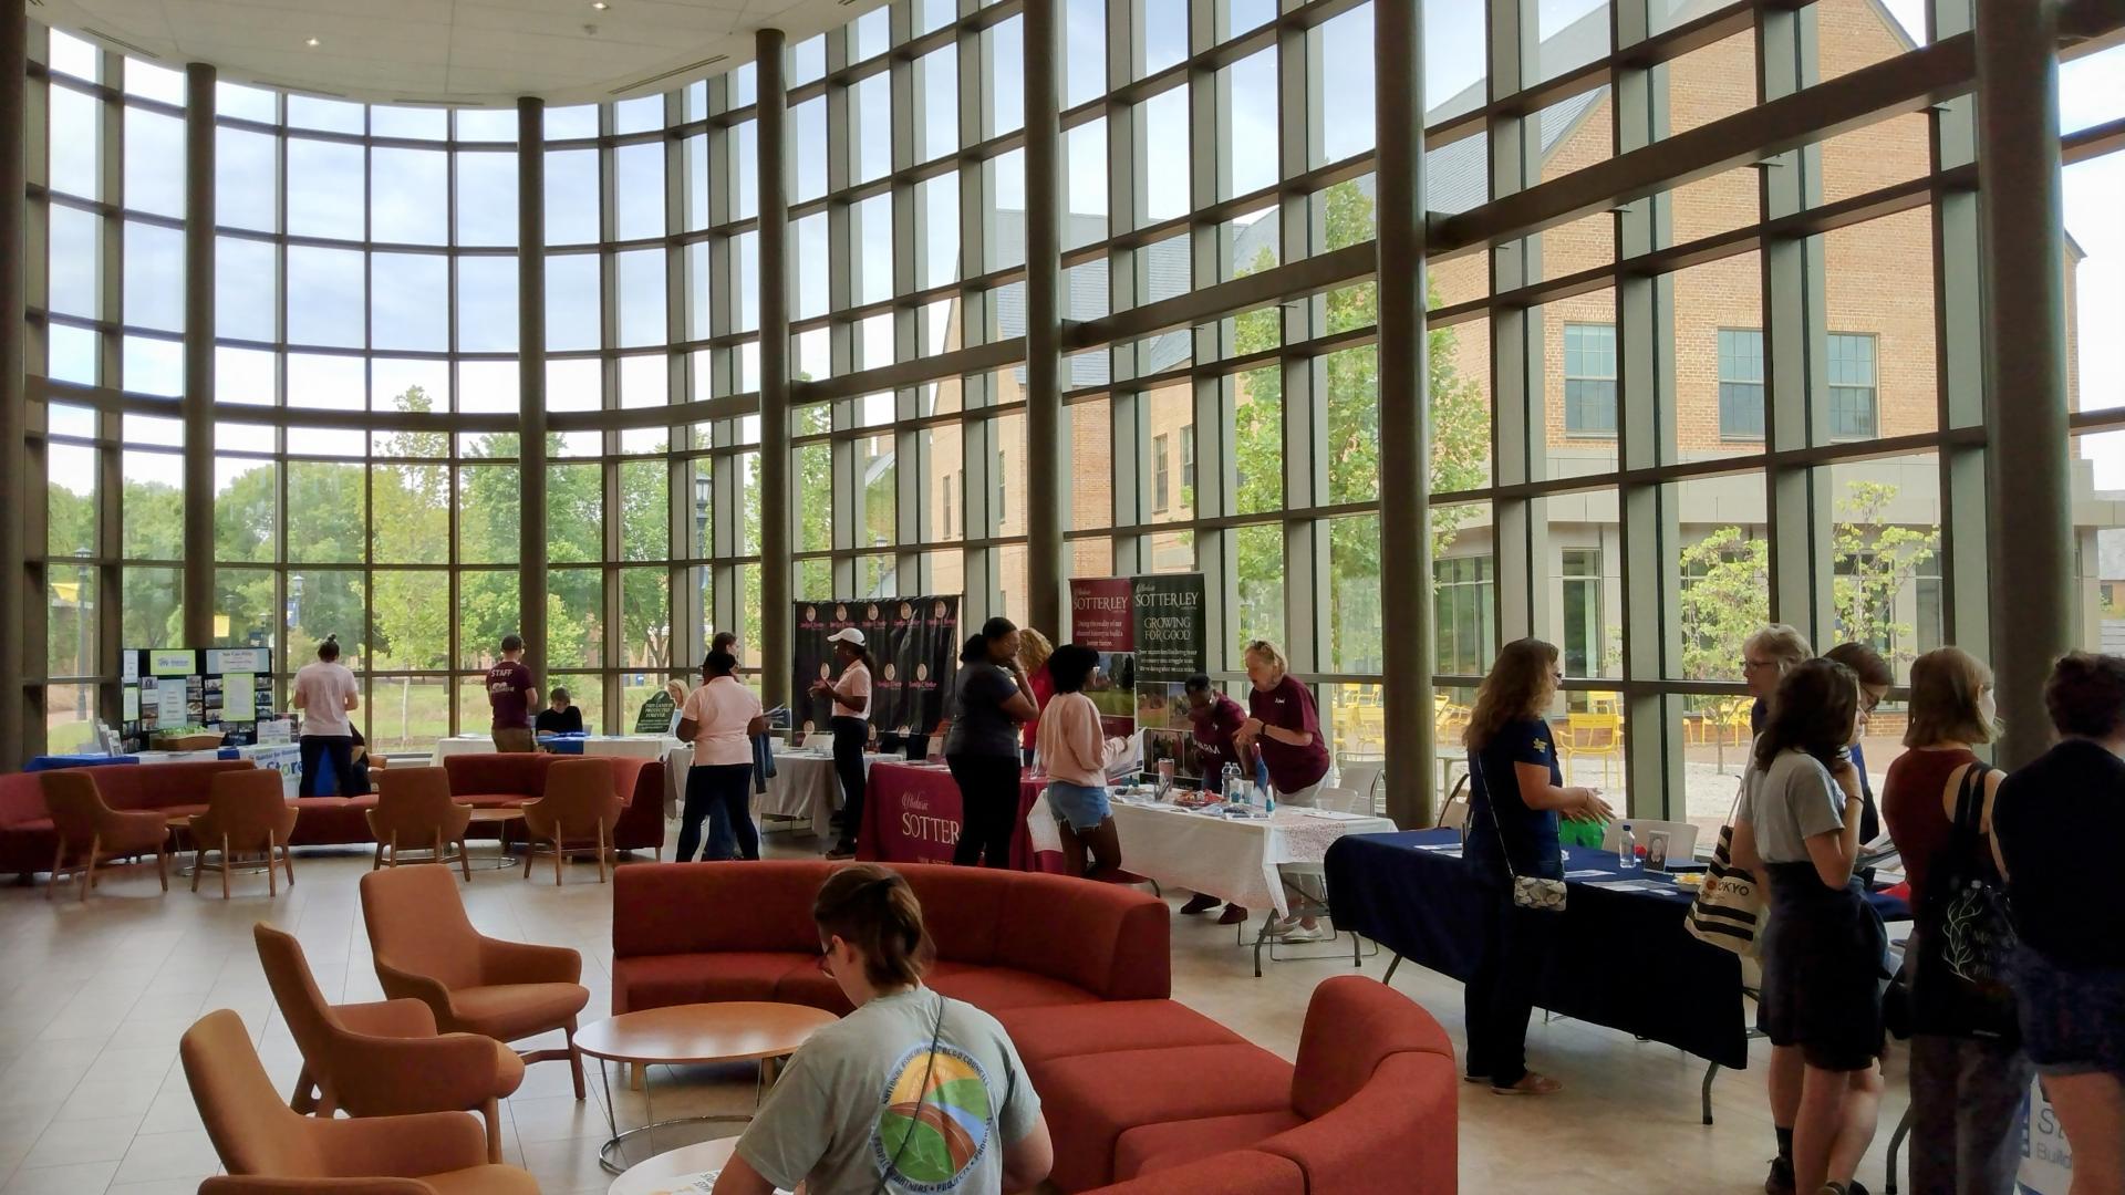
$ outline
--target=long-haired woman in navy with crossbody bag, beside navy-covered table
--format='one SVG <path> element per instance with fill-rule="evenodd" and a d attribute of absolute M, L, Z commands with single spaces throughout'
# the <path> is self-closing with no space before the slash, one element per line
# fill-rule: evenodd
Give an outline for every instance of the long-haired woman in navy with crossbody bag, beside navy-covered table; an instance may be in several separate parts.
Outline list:
<path fill-rule="evenodd" d="M 1481 955 L 1468 976 L 1468 1082 L 1498 1095 L 1549 1095 L 1558 1080 L 1528 1070 L 1534 974 L 1549 953 L 1558 916 L 1513 904 L 1513 876 L 1564 878 L 1558 817 L 1609 821 L 1598 789 L 1566 789 L 1558 736 L 1543 714 L 1564 672 L 1556 644 L 1504 644 L 1475 693 L 1462 742 L 1468 746 L 1468 840 L 1462 861 L 1485 891 Z"/>

